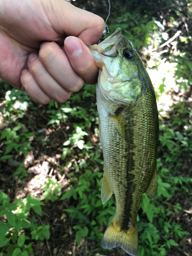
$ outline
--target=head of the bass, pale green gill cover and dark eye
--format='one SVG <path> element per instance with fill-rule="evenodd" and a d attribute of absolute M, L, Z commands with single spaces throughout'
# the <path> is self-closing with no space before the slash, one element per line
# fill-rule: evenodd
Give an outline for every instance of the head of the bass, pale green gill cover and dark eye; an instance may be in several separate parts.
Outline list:
<path fill-rule="evenodd" d="M 140 72 L 143 63 L 132 42 L 122 36 L 118 28 L 99 45 L 89 49 L 101 69 L 98 86 L 105 99 L 114 104 L 136 102 L 143 89 Z"/>

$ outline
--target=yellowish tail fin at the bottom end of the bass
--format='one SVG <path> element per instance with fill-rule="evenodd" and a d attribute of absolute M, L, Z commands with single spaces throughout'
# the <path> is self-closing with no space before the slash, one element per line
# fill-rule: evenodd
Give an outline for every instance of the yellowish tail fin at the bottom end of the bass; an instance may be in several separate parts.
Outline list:
<path fill-rule="evenodd" d="M 136 256 L 138 252 L 137 225 L 128 230 L 121 230 L 113 219 L 103 234 L 101 246 L 105 249 L 120 246 L 130 255 Z"/>

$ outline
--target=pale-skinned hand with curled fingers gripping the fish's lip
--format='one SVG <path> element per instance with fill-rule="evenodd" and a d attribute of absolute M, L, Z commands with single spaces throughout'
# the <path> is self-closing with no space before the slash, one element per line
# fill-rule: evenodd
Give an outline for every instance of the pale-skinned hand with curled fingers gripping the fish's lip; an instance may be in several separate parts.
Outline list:
<path fill-rule="evenodd" d="M 38 103 L 65 102 L 98 68 L 89 51 L 99 16 L 64 0 L 0 0 L 0 78 Z"/>

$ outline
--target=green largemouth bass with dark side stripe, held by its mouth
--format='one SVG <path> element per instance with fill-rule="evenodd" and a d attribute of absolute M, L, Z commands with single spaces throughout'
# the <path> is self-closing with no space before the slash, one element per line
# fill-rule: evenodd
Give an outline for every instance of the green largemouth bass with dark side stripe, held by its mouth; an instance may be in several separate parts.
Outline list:
<path fill-rule="evenodd" d="M 157 194 L 158 111 L 154 89 L 132 42 L 117 29 L 90 47 L 99 69 L 97 108 L 103 148 L 101 199 L 112 194 L 116 214 L 104 232 L 103 248 L 120 246 L 137 255 L 137 214 L 143 193 Z"/>

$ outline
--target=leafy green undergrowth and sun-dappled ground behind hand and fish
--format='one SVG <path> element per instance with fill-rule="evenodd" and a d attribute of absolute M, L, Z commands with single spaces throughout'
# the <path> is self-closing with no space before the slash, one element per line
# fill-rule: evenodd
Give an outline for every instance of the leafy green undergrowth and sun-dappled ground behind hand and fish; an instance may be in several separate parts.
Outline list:
<path fill-rule="evenodd" d="M 105 0 L 72 4 L 108 15 Z M 158 195 L 142 198 L 138 256 L 192 255 L 192 3 L 111 1 L 108 26 L 137 48 L 158 102 Z M 0 93 L 0 256 L 127 255 L 100 246 L 115 199 L 102 205 L 95 86 L 63 104 L 4 81 Z"/>

